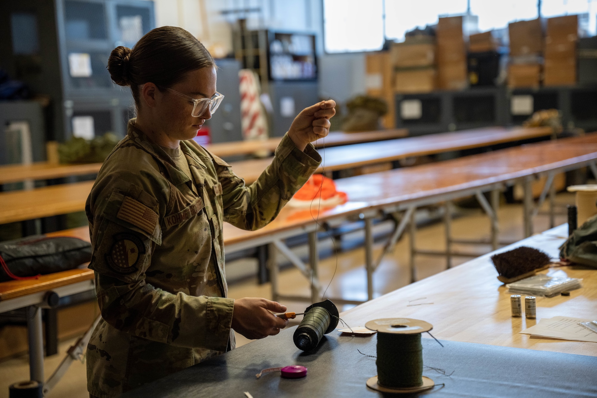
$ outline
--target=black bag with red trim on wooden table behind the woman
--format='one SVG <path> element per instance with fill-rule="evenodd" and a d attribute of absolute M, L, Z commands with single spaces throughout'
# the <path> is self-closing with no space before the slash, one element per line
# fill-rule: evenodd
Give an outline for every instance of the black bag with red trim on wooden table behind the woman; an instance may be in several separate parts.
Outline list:
<path fill-rule="evenodd" d="M 33 235 L 0 242 L 0 256 L 0 282 L 29 279 L 91 261 L 91 243 L 73 237 Z"/>

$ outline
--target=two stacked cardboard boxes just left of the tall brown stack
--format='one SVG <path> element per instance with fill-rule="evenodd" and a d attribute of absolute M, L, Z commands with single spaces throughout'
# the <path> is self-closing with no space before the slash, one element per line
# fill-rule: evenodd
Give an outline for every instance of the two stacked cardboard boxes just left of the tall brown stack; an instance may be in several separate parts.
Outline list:
<path fill-rule="evenodd" d="M 390 48 L 396 93 L 428 93 L 435 88 L 433 36 L 407 36 Z"/>

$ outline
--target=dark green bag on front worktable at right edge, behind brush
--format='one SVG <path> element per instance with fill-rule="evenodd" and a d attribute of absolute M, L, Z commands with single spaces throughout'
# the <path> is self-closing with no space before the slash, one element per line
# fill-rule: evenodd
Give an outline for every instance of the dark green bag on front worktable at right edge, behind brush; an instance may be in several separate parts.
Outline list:
<path fill-rule="evenodd" d="M 585 221 L 562 244 L 560 258 L 597 268 L 597 216 Z"/>

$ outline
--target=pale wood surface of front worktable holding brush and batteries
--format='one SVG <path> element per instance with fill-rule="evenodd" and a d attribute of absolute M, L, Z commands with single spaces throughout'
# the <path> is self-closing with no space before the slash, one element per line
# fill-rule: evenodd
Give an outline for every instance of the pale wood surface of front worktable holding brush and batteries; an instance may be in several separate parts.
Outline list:
<path fill-rule="evenodd" d="M 567 234 L 568 225 L 564 224 L 497 252 L 531 246 L 558 258 L 558 247 L 564 243 Z M 583 278 L 583 287 L 572 290 L 570 296 L 537 297 L 536 320 L 512 317 L 510 293 L 497 280 L 490 259 L 495 253 L 401 287 L 344 311 L 340 317 L 351 327 L 364 326 L 368 321 L 380 318 L 421 319 L 433 324 L 432 333 L 438 339 L 597 356 L 594 342 L 537 339 L 519 333 L 541 319 L 555 316 L 597 319 L 597 270 L 559 267 L 543 271 Z M 408 307 L 422 303 L 433 304 Z"/>

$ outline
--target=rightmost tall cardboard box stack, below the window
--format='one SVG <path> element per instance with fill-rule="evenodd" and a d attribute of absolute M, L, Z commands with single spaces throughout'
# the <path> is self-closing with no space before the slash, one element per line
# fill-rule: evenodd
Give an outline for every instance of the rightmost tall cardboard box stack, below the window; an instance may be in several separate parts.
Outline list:
<path fill-rule="evenodd" d="M 550 18 L 546 33 L 543 85 L 575 84 L 578 17 Z"/>

